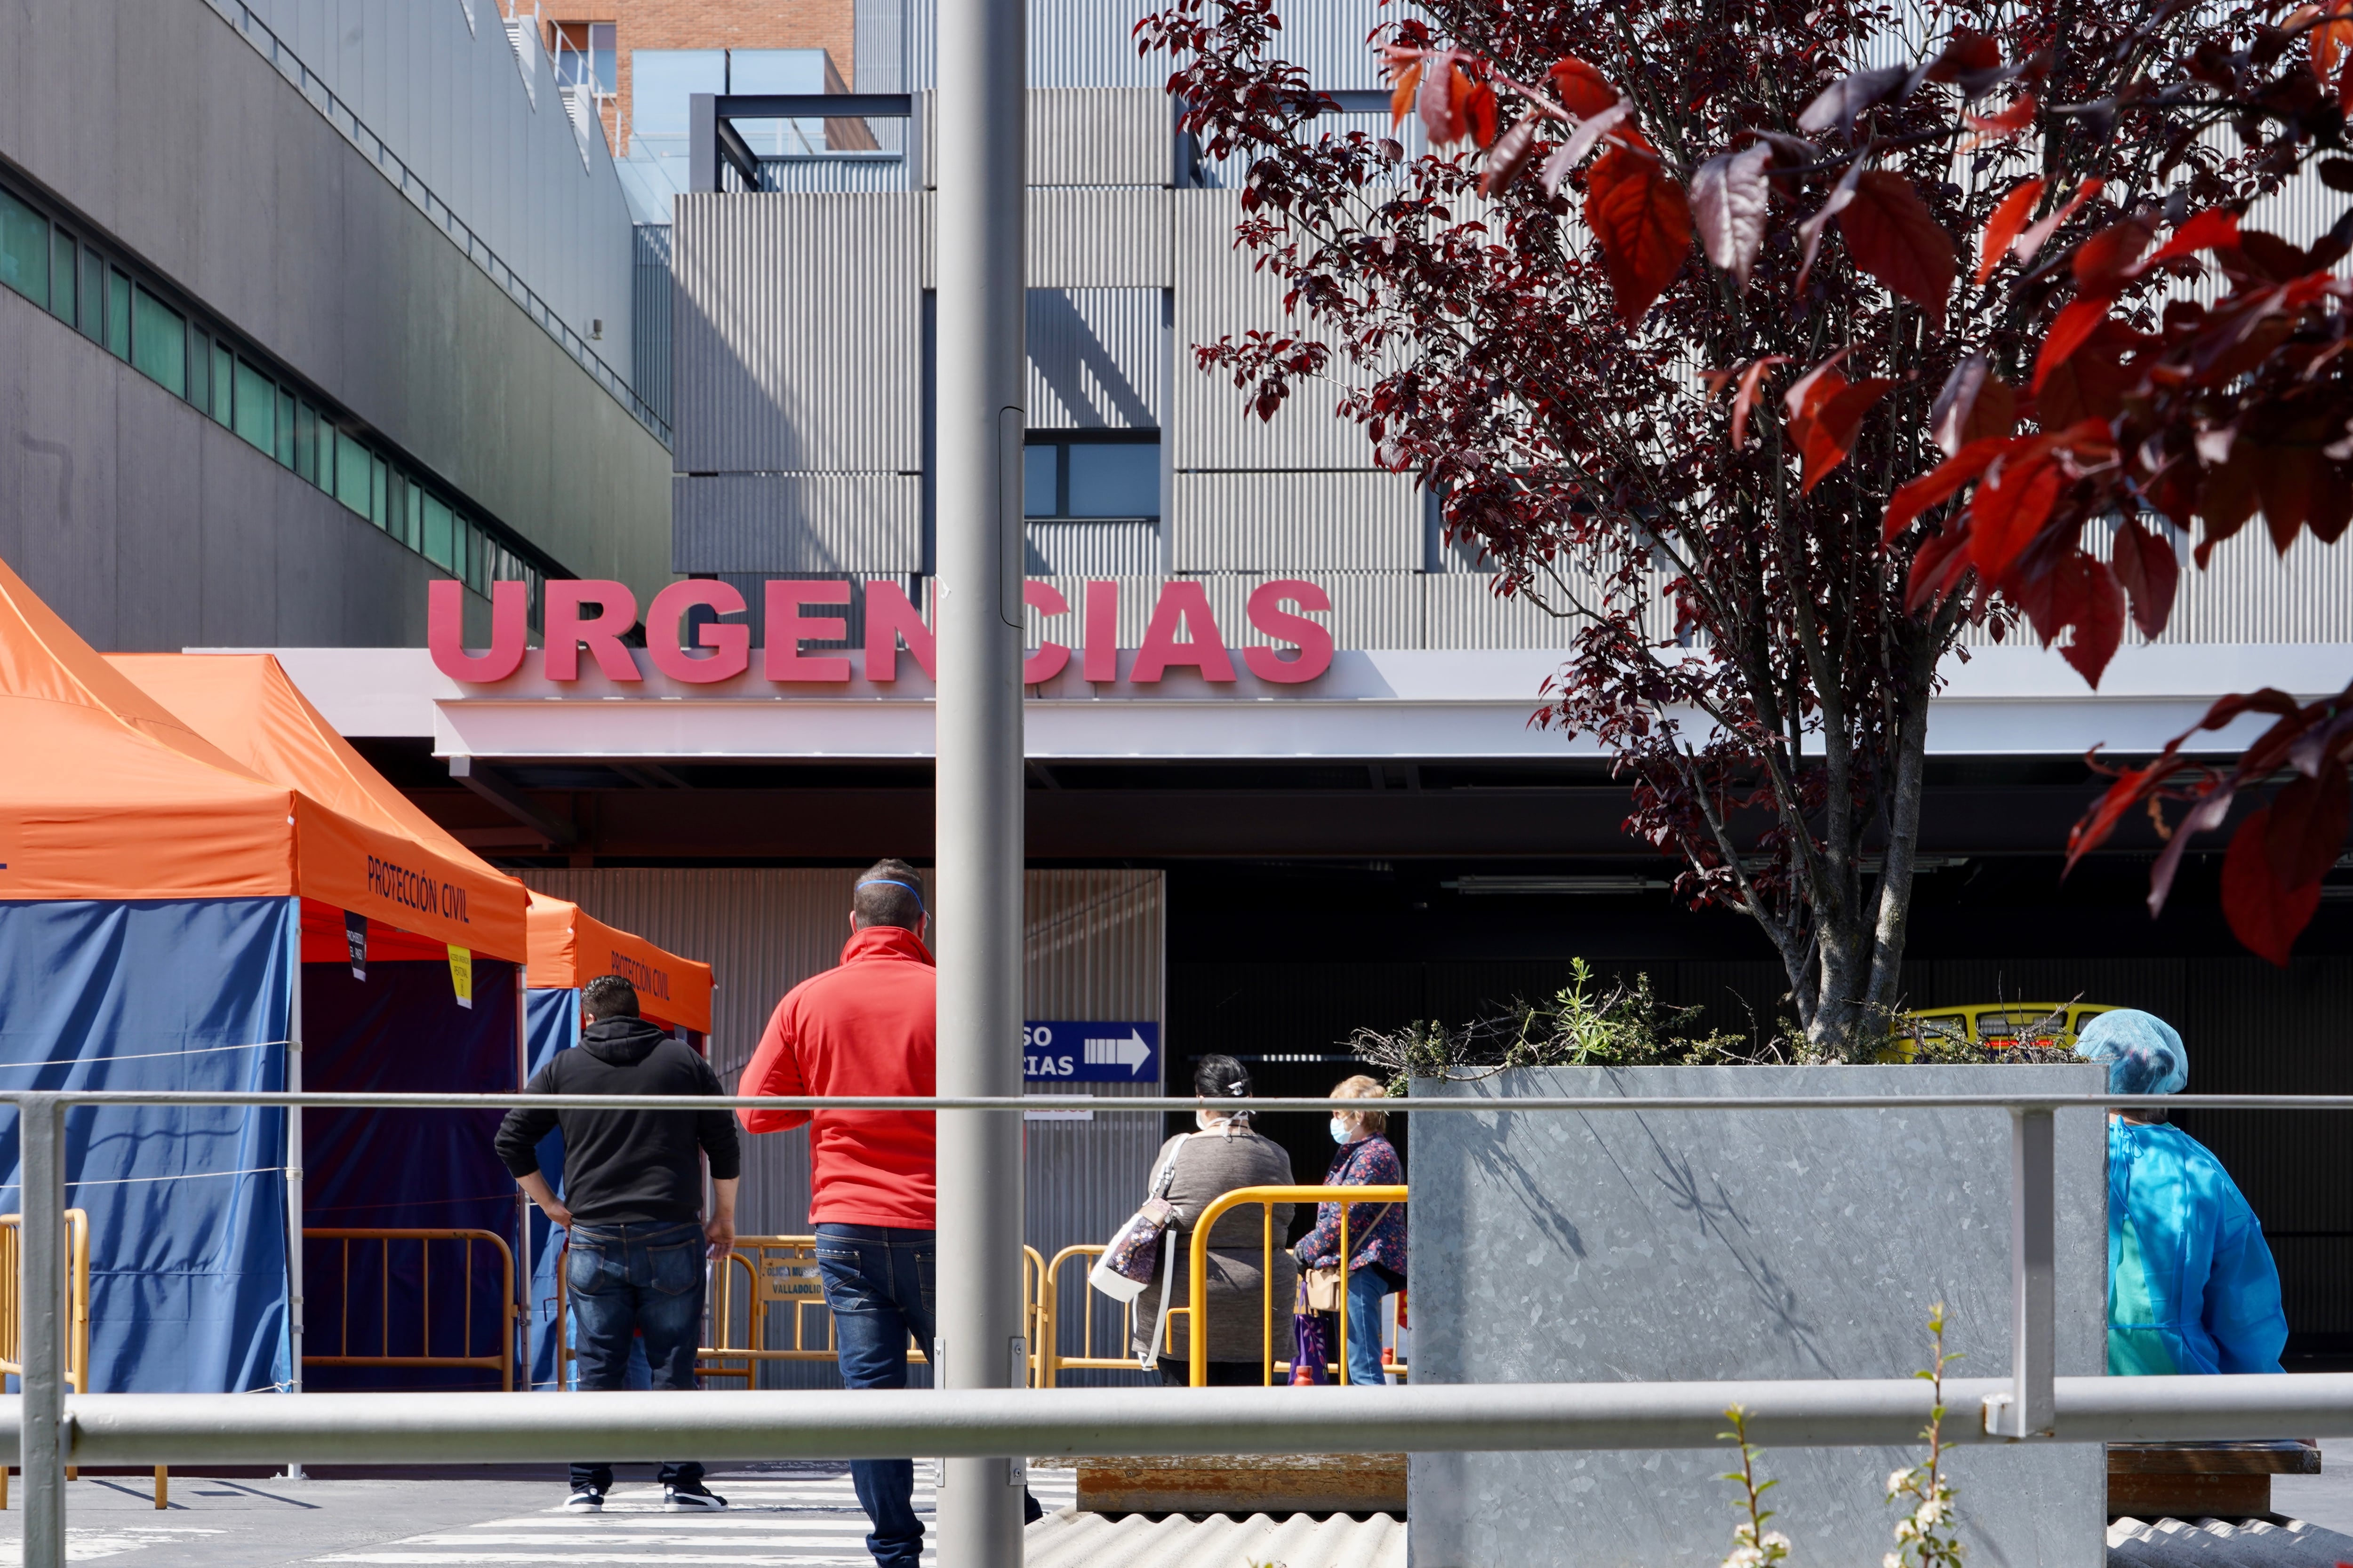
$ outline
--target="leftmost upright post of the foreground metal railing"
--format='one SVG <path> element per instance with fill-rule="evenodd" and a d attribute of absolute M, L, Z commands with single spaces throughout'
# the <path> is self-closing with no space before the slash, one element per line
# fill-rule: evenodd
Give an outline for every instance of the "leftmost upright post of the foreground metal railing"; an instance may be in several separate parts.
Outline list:
<path fill-rule="evenodd" d="M 16 1112 L 24 1178 L 24 1225 L 16 1307 L 24 1366 L 16 1441 L 24 1465 L 24 1563 L 66 1563 L 66 1107 L 52 1093 L 28 1093 Z"/>

